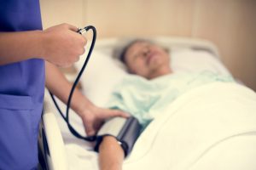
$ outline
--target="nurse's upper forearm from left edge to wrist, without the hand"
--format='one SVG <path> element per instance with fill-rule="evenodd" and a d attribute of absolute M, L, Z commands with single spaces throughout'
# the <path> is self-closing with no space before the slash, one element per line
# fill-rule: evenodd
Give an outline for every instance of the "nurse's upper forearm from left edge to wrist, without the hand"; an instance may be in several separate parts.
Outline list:
<path fill-rule="evenodd" d="M 42 31 L 0 32 L 0 65 L 42 56 Z"/>

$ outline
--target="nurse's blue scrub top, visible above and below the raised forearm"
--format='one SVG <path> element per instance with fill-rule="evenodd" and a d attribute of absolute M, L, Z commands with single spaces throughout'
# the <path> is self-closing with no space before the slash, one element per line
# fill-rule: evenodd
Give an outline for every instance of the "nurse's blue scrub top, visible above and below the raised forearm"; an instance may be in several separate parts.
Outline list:
<path fill-rule="evenodd" d="M 32 30 L 42 30 L 38 0 L 0 0 L 0 31 Z M 43 59 L 0 65 L 0 169 L 37 167 L 43 101 Z"/>

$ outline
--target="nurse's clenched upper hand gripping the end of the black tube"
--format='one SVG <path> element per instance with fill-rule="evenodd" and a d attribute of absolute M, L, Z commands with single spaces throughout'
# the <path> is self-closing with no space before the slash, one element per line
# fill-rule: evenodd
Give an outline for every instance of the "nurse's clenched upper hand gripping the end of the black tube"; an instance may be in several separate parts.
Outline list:
<path fill-rule="evenodd" d="M 53 26 L 42 33 L 41 55 L 50 63 L 61 67 L 73 65 L 84 54 L 86 38 L 77 33 L 78 28 L 68 24 Z"/>

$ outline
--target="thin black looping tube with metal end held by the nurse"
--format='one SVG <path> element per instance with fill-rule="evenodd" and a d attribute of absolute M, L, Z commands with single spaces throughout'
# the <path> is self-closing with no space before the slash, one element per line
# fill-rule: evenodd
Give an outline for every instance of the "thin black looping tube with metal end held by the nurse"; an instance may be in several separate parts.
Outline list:
<path fill-rule="evenodd" d="M 90 54 L 94 48 L 94 45 L 95 45 L 95 42 L 96 42 L 96 28 L 94 26 L 85 26 L 84 28 L 82 29 L 79 29 L 77 32 L 81 35 L 83 35 L 85 32 L 89 31 L 89 30 L 92 30 L 93 31 L 93 37 L 92 37 L 92 41 L 91 41 L 91 44 L 90 44 L 90 49 L 89 49 L 89 52 L 87 54 L 87 57 L 84 61 L 84 65 L 82 66 L 81 70 L 79 71 L 79 74 L 77 76 L 77 78 L 75 79 L 75 82 L 73 82 L 73 87 L 71 88 L 70 90 L 70 94 L 68 96 L 68 99 L 67 99 L 67 109 L 66 109 L 66 116 L 64 116 L 63 112 L 61 111 L 61 108 L 60 106 L 57 104 L 56 100 L 55 100 L 55 97 L 54 97 L 54 94 L 50 94 L 51 98 L 53 99 L 54 101 L 54 104 L 57 108 L 57 110 L 60 112 L 62 118 L 64 119 L 65 122 L 67 122 L 67 127 L 68 129 L 70 130 L 71 133 L 73 133 L 73 135 L 79 139 L 84 139 L 86 141 L 95 141 L 96 140 L 96 136 L 88 136 L 88 137 L 84 137 L 82 136 L 80 133 L 78 133 L 74 128 L 73 126 L 70 124 L 69 122 L 69 108 L 70 108 L 70 105 L 71 105 L 71 100 L 72 100 L 72 96 L 73 96 L 73 92 L 74 92 L 74 89 L 76 88 L 76 86 L 78 85 L 79 83 L 79 79 L 80 77 L 82 76 L 83 72 L 84 72 L 84 69 L 86 67 L 86 65 L 88 64 L 88 61 L 90 59 Z"/>

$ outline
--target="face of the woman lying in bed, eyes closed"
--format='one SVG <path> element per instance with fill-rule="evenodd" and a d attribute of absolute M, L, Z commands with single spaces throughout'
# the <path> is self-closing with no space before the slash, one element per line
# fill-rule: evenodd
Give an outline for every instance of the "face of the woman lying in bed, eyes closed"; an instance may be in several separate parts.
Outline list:
<path fill-rule="evenodd" d="M 163 68 L 170 67 L 169 54 L 151 42 L 135 42 L 126 51 L 125 63 L 131 73 L 148 79 Z"/>

